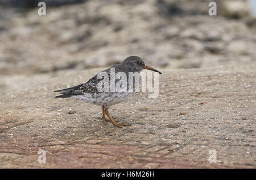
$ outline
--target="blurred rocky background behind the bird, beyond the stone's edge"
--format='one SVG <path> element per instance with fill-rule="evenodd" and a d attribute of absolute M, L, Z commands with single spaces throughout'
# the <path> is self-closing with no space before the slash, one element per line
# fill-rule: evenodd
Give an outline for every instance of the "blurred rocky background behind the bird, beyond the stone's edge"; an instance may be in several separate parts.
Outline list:
<path fill-rule="evenodd" d="M 131 55 L 156 69 L 256 62 L 256 1 L 0 0 L 0 90 Z M 93 74 L 92 74 L 93 75 Z M 86 80 L 86 79 L 85 79 Z"/>

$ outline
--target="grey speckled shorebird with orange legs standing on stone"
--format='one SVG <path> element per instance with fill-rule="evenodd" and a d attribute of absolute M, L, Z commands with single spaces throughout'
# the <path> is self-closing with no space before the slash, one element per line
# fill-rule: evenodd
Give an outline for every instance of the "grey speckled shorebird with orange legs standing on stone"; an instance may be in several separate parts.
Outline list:
<path fill-rule="evenodd" d="M 86 103 L 102 106 L 101 119 L 104 123 L 111 122 L 115 127 L 119 128 L 122 128 L 123 126 L 130 126 L 130 124 L 115 122 L 112 116 L 109 114 L 109 107 L 113 106 L 114 104 L 126 101 L 127 97 L 129 97 L 129 95 L 134 92 L 136 86 L 134 81 L 132 81 L 130 83 L 133 83 L 131 84 L 133 89 L 131 91 L 127 90 L 127 87 L 129 87 L 129 78 L 121 78 L 121 76 L 117 76 L 118 73 L 123 73 L 126 75 L 126 77 L 129 77 L 129 73 L 139 74 L 143 69 L 152 70 L 162 74 L 151 66 L 146 65 L 141 57 L 129 56 L 125 58 L 121 64 L 115 64 L 110 68 L 103 70 L 102 72 L 96 74 L 88 81 L 81 83 L 80 85 L 54 91 L 55 93 L 60 92 L 61 94 L 57 95 L 55 98 L 77 98 L 84 100 Z M 102 76 L 104 74 L 107 76 L 107 78 Z M 139 82 L 141 82 L 141 77 L 139 78 Z M 118 82 L 120 87 L 124 87 L 125 90 L 111 90 L 113 83 Z M 104 89 L 104 91 L 102 91 L 102 89 Z M 109 119 L 106 119 L 105 114 Z"/>

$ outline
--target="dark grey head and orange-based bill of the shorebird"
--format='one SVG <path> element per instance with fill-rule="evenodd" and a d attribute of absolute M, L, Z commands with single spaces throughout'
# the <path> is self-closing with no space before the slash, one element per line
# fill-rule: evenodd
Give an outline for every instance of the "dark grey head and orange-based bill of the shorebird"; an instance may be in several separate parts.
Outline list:
<path fill-rule="evenodd" d="M 141 57 L 138 56 L 129 56 L 122 62 L 122 66 L 125 66 L 131 72 L 141 72 L 143 69 L 152 70 L 154 72 L 158 72 L 162 74 L 158 70 L 146 65 Z"/>

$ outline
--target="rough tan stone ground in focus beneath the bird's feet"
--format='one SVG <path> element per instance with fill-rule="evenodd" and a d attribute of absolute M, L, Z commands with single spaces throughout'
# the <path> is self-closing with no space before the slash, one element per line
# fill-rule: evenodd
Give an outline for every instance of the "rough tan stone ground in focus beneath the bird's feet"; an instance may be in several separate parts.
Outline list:
<path fill-rule="evenodd" d="M 54 98 L 100 70 L 27 77 L 2 96 L 0 168 L 256 168 L 255 65 L 162 69 L 157 99 L 110 109 L 124 128 L 102 123 L 100 106 Z"/>

